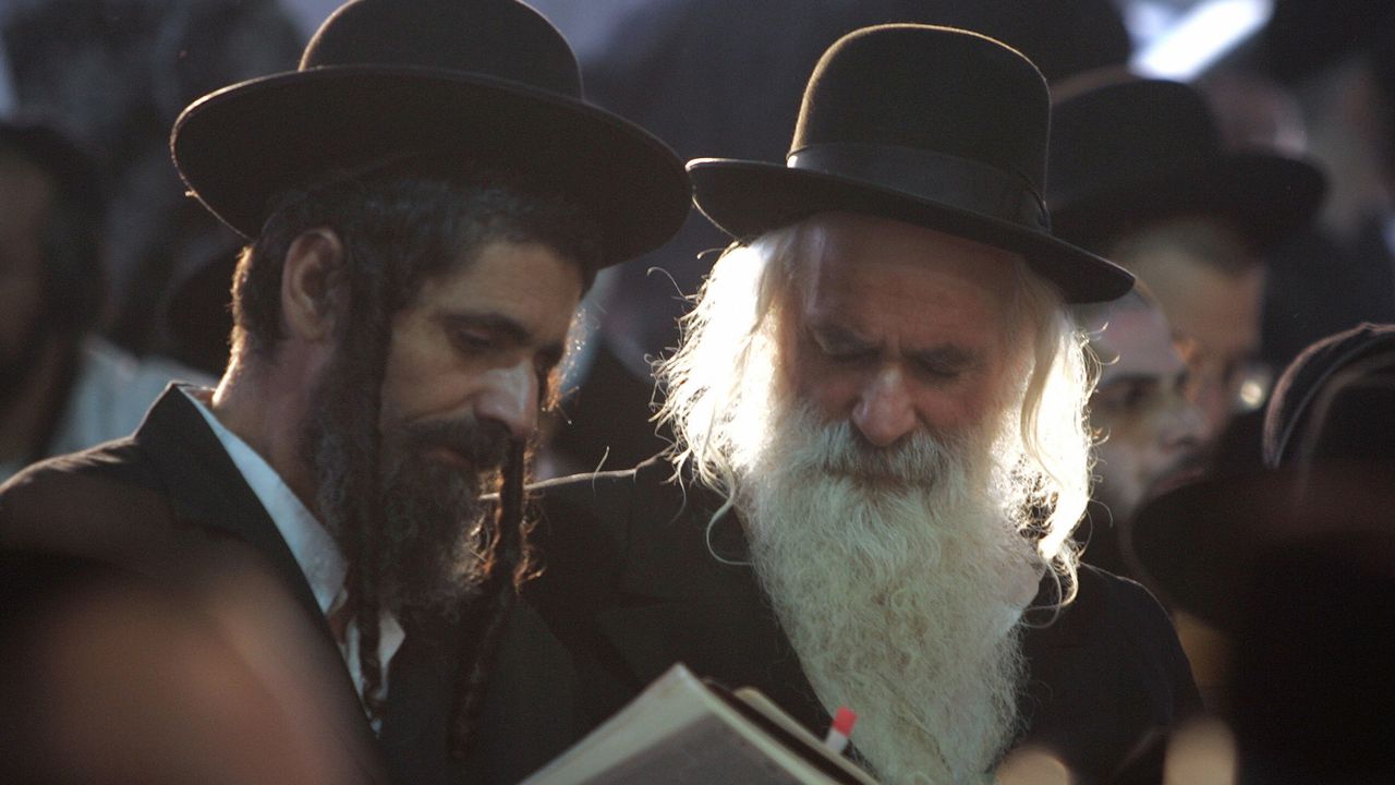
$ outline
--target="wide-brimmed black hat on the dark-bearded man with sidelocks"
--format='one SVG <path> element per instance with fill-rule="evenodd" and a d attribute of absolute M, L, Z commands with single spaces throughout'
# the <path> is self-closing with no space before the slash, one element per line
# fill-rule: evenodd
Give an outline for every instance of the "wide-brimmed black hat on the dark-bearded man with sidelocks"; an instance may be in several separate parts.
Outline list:
<path fill-rule="evenodd" d="M 682 162 L 586 103 L 566 41 L 515 0 L 353 0 L 299 70 L 191 103 L 170 148 L 190 191 L 248 237 L 275 194 L 407 155 L 504 162 L 572 194 L 605 263 L 663 244 L 689 208 Z"/>

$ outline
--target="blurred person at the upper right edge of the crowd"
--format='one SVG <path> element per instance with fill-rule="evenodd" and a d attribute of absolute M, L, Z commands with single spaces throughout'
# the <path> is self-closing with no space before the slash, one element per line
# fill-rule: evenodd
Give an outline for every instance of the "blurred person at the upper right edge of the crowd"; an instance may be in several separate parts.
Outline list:
<path fill-rule="evenodd" d="M 1256 50 L 1329 186 L 1317 221 L 1274 249 L 1264 353 L 1283 367 L 1325 335 L 1395 321 L 1395 3 L 1275 0 Z"/>

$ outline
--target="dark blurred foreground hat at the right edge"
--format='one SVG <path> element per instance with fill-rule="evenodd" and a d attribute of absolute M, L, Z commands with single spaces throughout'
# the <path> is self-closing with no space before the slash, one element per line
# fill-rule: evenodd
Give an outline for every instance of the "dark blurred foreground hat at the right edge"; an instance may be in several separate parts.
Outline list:
<path fill-rule="evenodd" d="M 1395 548 L 1395 325 L 1339 332 L 1293 360 L 1269 399 L 1265 462 L 1159 496 L 1130 531 L 1162 594 L 1223 629 L 1271 553 L 1332 538 Z"/>

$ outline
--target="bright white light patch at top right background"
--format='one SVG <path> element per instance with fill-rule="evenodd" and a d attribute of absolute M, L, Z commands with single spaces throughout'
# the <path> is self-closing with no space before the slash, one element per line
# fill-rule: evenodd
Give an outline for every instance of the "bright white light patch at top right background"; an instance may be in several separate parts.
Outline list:
<path fill-rule="evenodd" d="M 1148 43 L 1134 54 L 1133 66 L 1149 77 L 1191 80 L 1260 29 L 1272 10 L 1272 0 L 1205 0 L 1165 22 L 1158 7 L 1140 3 L 1130 25 Z"/>

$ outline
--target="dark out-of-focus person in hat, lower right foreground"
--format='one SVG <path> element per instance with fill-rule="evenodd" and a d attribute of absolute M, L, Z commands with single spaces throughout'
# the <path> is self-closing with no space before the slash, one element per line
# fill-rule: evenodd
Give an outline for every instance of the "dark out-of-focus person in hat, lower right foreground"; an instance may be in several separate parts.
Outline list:
<path fill-rule="evenodd" d="M 1303 351 L 1275 386 L 1264 468 L 1144 507 L 1152 585 L 1209 626 L 1208 705 L 1239 782 L 1395 775 L 1395 325 Z"/>

